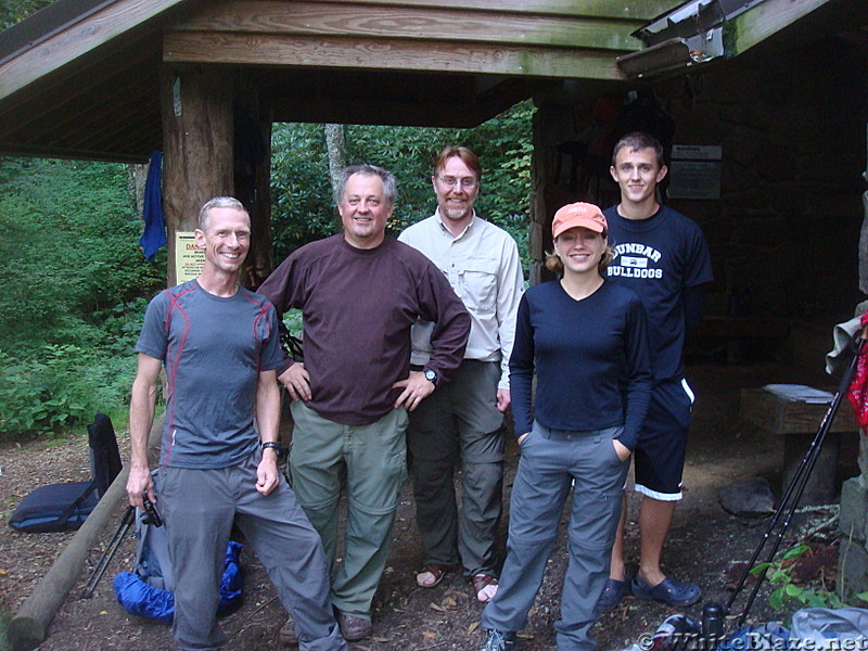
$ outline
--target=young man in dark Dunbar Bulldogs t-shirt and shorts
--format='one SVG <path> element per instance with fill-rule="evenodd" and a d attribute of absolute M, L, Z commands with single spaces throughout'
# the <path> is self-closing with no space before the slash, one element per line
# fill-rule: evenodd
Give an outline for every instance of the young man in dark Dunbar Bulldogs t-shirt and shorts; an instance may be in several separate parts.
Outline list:
<path fill-rule="evenodd" d="M 647 133 L 628 133 L 615 144 L 611 174 L 621 203 L 604 212 L 615 257 L 609 279 L 630 286 L 648 312 L 654 388 L 635 450 L 639 512 L 639 570 L 628 576 L 623 542 L 626 509 L 612 550 L 610 578 L 598 602 L 613 608 L 627 592 L 669 605 L 699 601 L 699 586 L 666 576 L 660 567 L 675 502 L 681 499 L 687 431 L 693 394 L 684 379 L 685 334 L 702 318 L 712 266 L 699 226 L 660 205 L 656 187 L 666 176 L 660 142 Z"/>

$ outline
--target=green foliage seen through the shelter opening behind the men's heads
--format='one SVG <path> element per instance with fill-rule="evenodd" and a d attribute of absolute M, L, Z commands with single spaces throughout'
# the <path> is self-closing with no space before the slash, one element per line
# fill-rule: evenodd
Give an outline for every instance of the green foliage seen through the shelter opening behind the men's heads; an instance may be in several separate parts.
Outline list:
<path fill-rule="evenodd" d="M 397 178 L 398 202 L 387 225 L 394 235 L 434 212 L 431 174 L 439 151 L 470 146 L 483 165 L 476 209 L 515 238 L 527 263 L 533 114 L 531 102 L 522 102 L 474 129 L 350 125 L 347 162 L 380 165 Z M 275 126 L 271 182 L 275 259 L 337 232 L 323 125 Z"/>

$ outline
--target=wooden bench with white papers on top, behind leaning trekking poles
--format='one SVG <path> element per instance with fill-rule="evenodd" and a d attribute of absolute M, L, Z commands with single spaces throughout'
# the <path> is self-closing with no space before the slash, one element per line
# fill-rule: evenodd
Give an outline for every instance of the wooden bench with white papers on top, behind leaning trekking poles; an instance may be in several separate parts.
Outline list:
<path fill-rule="evenodd" d="M 799 470 L 828 410 L 829 404 L 789 399 L 766 387 L 741 391 L 742 421 L 784 437 L 783 489 L 790 485 Z M 843 433 L 858 432 L 858 429 L 853 409 L 844 398 L 826 435 L 800 505 L 827 505 L 834 501 L 841 437 Z"/>

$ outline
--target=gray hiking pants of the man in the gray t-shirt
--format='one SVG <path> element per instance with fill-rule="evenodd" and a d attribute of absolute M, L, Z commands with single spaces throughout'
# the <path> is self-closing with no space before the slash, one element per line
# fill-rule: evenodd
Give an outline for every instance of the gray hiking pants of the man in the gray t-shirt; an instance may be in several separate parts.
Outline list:
<path fill-rule="evenodd" d="M 260 458 L 257 449 L 230 468 L 159 469 L 157 507 L 175 577 L 175 641 L 184 651 L 213 651 L 226 642 L 217 604 L 235 520 L 292 615 L 299 648 L 346 650 L 329 602 L 329 567 L 319 535 L 283 477 L 267 496 L 256 490 Z"/>

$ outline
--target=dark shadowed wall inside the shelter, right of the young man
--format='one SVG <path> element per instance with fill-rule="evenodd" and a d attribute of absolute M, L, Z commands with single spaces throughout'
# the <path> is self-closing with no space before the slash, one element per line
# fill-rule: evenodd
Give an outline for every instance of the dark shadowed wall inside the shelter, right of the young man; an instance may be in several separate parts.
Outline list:
<path fill-rule="evenodd" d="M 720 201 L 671 202 L 712 247 L 710 307 L 746 292 L 753 316 L 844 321 L 864 298 L 865 55 L 824 40 L 731 63 L 655 88 L 676 142 L 723 148 Z"/>

